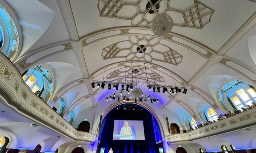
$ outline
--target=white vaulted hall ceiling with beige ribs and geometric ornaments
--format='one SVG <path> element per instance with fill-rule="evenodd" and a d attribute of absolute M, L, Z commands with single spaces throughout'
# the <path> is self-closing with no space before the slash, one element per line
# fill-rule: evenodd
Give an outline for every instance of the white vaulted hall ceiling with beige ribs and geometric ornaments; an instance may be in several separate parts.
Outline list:
<path fill-rule="evenodd" d="M 15 66 L 21 74 L 33 65 L 49 68 L 55 81 L 50 104 L 66 97 L 67 114 L 76 109 L 78 116 L 116 92 L 92 89 L 91 80 L 131 81 L 132 69 L 139 70 L 137 86 L 160 100 L 148 105 L 180 118 L 186 112 L 197 118 L 204 103 L 222 113 L 217 95 L 224 81 L 256 80 L 252 0 L 151 0 L 174 21 L 163 37 L 151 30 L 155 13 L 147 10 L 148 0 L 32 0 L 26 6 L 6 1 L 23 32 Z M 155 94 L 146 89 L 146 77 L 189 91 Z"/>

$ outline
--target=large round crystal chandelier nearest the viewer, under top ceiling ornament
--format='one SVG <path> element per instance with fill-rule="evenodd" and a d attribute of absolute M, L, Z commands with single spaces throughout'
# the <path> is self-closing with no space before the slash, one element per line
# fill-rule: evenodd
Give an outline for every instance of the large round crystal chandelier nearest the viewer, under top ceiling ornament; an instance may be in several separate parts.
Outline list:
<path fill-rule="evenodd" d="M 152 23 L 152 31 L 157 36 L 167 35 L 173 27 L 172 18 L 166 13 L 157 14 Z"/>

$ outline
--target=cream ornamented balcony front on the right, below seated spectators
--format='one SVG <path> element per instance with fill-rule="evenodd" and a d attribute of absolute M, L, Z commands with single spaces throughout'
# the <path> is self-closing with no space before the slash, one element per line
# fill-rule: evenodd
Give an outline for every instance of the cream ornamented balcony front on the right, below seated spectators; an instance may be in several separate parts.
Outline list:
<path fill-rule="evenodd" d="M 187 133 L 168 135 L 168 142 L 191 141 L 256 125 L 256 107 Z"/>

